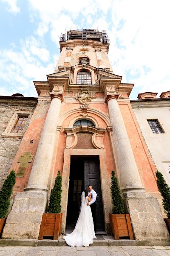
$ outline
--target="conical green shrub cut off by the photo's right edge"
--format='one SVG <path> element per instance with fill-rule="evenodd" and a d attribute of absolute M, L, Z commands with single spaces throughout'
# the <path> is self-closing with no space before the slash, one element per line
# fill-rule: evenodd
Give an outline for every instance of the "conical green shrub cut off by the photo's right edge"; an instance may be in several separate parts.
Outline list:
<path fill-rule="evenodd" d="M 170 187 L 167 185 L 163 175 L 158 170 L 156 171 L 156 177 L 157 186 L 163 198 L 162 203 L 164 212 L 166 213 L 167 218 L 170 218 Z"/>

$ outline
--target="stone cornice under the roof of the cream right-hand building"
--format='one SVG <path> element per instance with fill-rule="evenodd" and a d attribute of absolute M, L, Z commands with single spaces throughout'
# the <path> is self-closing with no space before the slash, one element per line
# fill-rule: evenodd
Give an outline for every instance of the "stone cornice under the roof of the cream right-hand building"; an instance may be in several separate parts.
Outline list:
<path fill-rule="evenodd" d="M 170 98 L 133 99 L 130 104 L 132 108 L 165 108 L 170 107 Z"/>

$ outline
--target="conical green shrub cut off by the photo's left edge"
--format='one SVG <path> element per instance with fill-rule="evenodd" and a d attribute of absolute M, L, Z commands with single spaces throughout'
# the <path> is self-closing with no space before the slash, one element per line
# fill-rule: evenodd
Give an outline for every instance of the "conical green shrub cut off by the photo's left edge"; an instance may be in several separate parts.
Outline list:
<path fill-rule="evenodd" d="M 10 205 L 10 197 L 12 195 L 12 187 L 16 182 L 14 170 L 7 176 L 2 189 L 0 190 L 0 218 L 5 218 Z"/>

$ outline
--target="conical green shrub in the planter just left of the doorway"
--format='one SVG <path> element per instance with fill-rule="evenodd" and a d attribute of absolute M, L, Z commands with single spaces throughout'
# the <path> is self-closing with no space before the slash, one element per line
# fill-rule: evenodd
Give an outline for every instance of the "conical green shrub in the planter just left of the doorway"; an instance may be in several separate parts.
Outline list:
<path fill-rule="evenodd" d="M 61 212 L 61 187 L 62 177 L 58 171 L 57 177 L 55 178 L 54 188 L 51 192 L 50 203 L 47 209 L 48 213 L 60 213 Z"/>

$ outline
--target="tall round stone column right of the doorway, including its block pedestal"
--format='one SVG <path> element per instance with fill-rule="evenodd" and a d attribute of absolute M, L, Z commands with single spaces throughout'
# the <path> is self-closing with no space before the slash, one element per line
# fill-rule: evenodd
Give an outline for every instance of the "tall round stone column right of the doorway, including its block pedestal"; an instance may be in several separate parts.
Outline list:
<path fill-rule="evenodd" d="M 136 240 L 141 244 L 158 243 L 169 238 L 157 198 L 145 192 L 136 166 L 122 114 L 117 102 L 119 95 L 106 95 L 113 129 L 113 154 L 120 186 Z"/>

